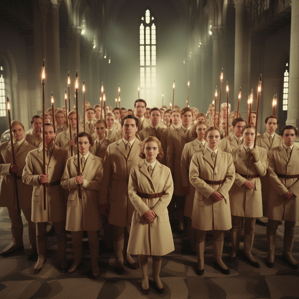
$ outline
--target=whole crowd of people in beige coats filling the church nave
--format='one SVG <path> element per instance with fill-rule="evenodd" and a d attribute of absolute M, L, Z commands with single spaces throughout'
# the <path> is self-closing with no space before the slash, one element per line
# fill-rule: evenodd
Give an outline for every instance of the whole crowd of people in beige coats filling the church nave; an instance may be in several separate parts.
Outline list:
<path fill-rule="evenodd" d="M 57 236 L 63 273 L 74 273 L 82 262 L 83 231 L 87 231 L 91 270 L 99 279 L 97 231 L 103 225 L 106 246 L 115 250 L 116 273 L 123 274 L 124 260 L 132 269 L 140 267 L 146 295 L 148 256 L 152 256 L 156 288 L 163 293 L 162 256 L 174 250 L 172 231 L 182 233 L 184 223 L 190 250 L 198 256 L 198 275 L 204 274 L 208 231 L 213 233 L 214 265 L 219 271 L 230 273 L 227 264 L 235 260 L 240 241 L 248 263 L 259 268 L 251 254 L 256 222 L 266 226 L 266 264 L 272 268 L 276 230 L 283 220 L 283 258 L 298 269 L 292 257 L 299 221 L 297 128 L 283 126 L 277 134 L 279 120 L 270 115 L 266 132 L 259 134 L 256 112 L 251 112 L 248 122 L 226 103 L 220 112 L 210 104 L 203 113 L 178 106 L 150 109 L 143 99 L 136 100 L 133 109 L 106 105 L 105 111 L 85 102 L 84 112 L 85 123 L 77 119 L 75 110 L 58 108 L 53 118 L 49 108 L 44 132 L 42 115 L 33 115 L 26 134 L 20 121 L 11 122 L 13 148 L 10 141 L 0 144 L 0 206 L 7 208 L 13 244 L 1 256 L 24 249 L 16 174 L 19 207 L 28 221 L 27 259 L 38 255 L 34 274 L 46 262 L 49 223 Z M 72 236 L 71 267 L 65 254 L 66 231 Z M 223 242 L 229 233 L 231 252 L 224 263 Z M 138 255 L 138 263 L 131 255 Z"/>

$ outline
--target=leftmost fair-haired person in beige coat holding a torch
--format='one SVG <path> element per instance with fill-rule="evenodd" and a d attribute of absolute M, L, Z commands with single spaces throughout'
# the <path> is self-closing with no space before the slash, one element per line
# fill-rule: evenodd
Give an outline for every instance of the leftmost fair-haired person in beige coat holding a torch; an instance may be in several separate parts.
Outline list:
<path fill-rule="evenodd" d="M 22 216 L 18 214 L 13 177 L 13 174 L 16 174 L 19 208 L 28 221 L 30 247 L 26 258 L 30 259 L 36 254 L 36 228 L 35 223 L 31 221 L 31 194 L 33 187 L 23 184 L 21 178 L 25 167 L 26 156 L 28 152 L 35 149 L 35 147 L 25 141 L 25 128 L 20 121 L 13 120 L 11 122 L 11 130 L 13 134 L 13 149 L 10 141 L 0 144 L 0 206 L 6 207 L 11 223 L 13 244 L 3 250 L 0 255 L 9 256 L 10 254 L 24 249 L 23 222 Z M 15 153 L 15 164 L 13 164 L 12 151 Z"/>

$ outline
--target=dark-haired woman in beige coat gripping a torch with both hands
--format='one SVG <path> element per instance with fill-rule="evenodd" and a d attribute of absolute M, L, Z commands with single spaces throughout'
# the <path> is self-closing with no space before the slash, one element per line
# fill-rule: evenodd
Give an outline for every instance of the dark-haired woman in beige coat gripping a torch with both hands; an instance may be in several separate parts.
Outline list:
<path fill-rule="evenodd" d="M 72 233 L 74 262 L 66 274 L 72 274 L 82 262 L 83 231 L 87 231 L 91 270 L 94 278 L 100 278 L 97 263 L 99 255 L 99 241 L 97 230 L 102 227 L 98 192 L 103 179 L 103 160 L 92 155 L 89 147 L 92 144 L 91 136 L 82 132 L 78 135 L 80 152 L 80 174 L 78 174 L 77 155 L 68 159 L 65 171 L 61 178 L 61 186 L 69 189 L 65 229 Z M 82 199 L 78 195 L 78 184 L 81 185 Z"/>

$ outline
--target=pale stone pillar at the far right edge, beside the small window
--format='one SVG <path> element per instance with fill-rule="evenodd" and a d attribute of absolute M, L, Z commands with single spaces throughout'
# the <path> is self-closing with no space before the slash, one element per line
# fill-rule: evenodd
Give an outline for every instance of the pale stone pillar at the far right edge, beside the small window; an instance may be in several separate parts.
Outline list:
<path fill-rule="evenodd" d="M 289 100 L 286 125 L 299 127 L 299 0 L 292 0 Z"/>

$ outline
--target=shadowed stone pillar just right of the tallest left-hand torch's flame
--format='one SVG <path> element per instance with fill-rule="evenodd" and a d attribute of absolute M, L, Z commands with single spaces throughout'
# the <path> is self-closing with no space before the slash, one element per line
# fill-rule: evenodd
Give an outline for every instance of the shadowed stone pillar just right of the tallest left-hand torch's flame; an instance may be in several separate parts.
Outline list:
<path fill-rule="evenodd" d="M 60 46 L 59 46 L 59 1 L 51 0 L 47 15 L 47 83 L 45 94 L 46 108 L 51 107 L 51 91 L 54 107 L 64 106 L 64 97 L 60 102 Z"/>

